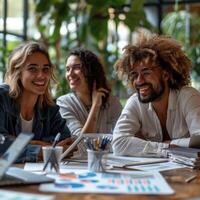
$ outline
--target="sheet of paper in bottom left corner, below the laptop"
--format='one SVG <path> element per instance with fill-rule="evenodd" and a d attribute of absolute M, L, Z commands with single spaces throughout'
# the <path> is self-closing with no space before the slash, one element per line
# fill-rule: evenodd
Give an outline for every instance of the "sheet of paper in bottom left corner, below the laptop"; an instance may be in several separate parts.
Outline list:
<path fill-rule="evenodd" d="M 53 200 L 52 195 L 38 195 L 23 192 L 13 192 L 10 190 L 0 190 L 0 199 L 6 200 Z"/>

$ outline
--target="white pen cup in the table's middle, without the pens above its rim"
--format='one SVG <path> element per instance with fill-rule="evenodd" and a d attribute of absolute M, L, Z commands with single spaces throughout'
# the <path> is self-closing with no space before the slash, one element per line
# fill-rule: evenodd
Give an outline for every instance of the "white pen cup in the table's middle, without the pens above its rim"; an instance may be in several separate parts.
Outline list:
<path fill-rule="evenodd" d="M 88 152 L 88 170 L 92 172 L 104 172 L 106 160 L 103 158 L 108 150 L 91 150 L 87 149 Z"/>

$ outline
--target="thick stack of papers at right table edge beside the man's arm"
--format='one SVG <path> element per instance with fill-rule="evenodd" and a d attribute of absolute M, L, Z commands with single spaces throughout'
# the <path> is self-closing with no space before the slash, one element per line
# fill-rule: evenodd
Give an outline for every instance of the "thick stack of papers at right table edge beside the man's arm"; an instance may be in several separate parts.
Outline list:
<path fill-rule="evenodd" d="M 174 162 L 200 169 L 200 149 L 173 147 L 169 149 L 169 156 Z"/>

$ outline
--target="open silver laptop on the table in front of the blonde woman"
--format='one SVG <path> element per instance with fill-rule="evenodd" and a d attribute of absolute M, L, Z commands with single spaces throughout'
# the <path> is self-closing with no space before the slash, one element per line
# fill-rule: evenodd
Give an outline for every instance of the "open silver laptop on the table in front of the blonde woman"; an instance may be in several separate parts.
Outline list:
<path fill-rule="evenodd" d="M 11 167 L 32 138 L 33 133 L 20 133 L 2 157 L 0 157 L 0 186 L 54 182 L 54 179 L 44 175 Z"/>

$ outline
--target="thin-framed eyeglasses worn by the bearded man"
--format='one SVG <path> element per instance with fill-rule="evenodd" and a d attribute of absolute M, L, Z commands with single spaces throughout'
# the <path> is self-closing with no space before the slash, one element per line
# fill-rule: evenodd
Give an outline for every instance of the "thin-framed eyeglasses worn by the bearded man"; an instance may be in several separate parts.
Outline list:
<path fill-rule="evenodd" d="M 147 78 L 148 76 L 152 75 L 154 69 L 159 68 L 159 66 L 154 66 L 154 67 L 144 67 L 140 72 L 136 72 L 136 71 L 131 71 L 128 74 L 128 79 L 130 81 L 136 81 L 138 79 L 139 74 L 144 77 Z"/>

